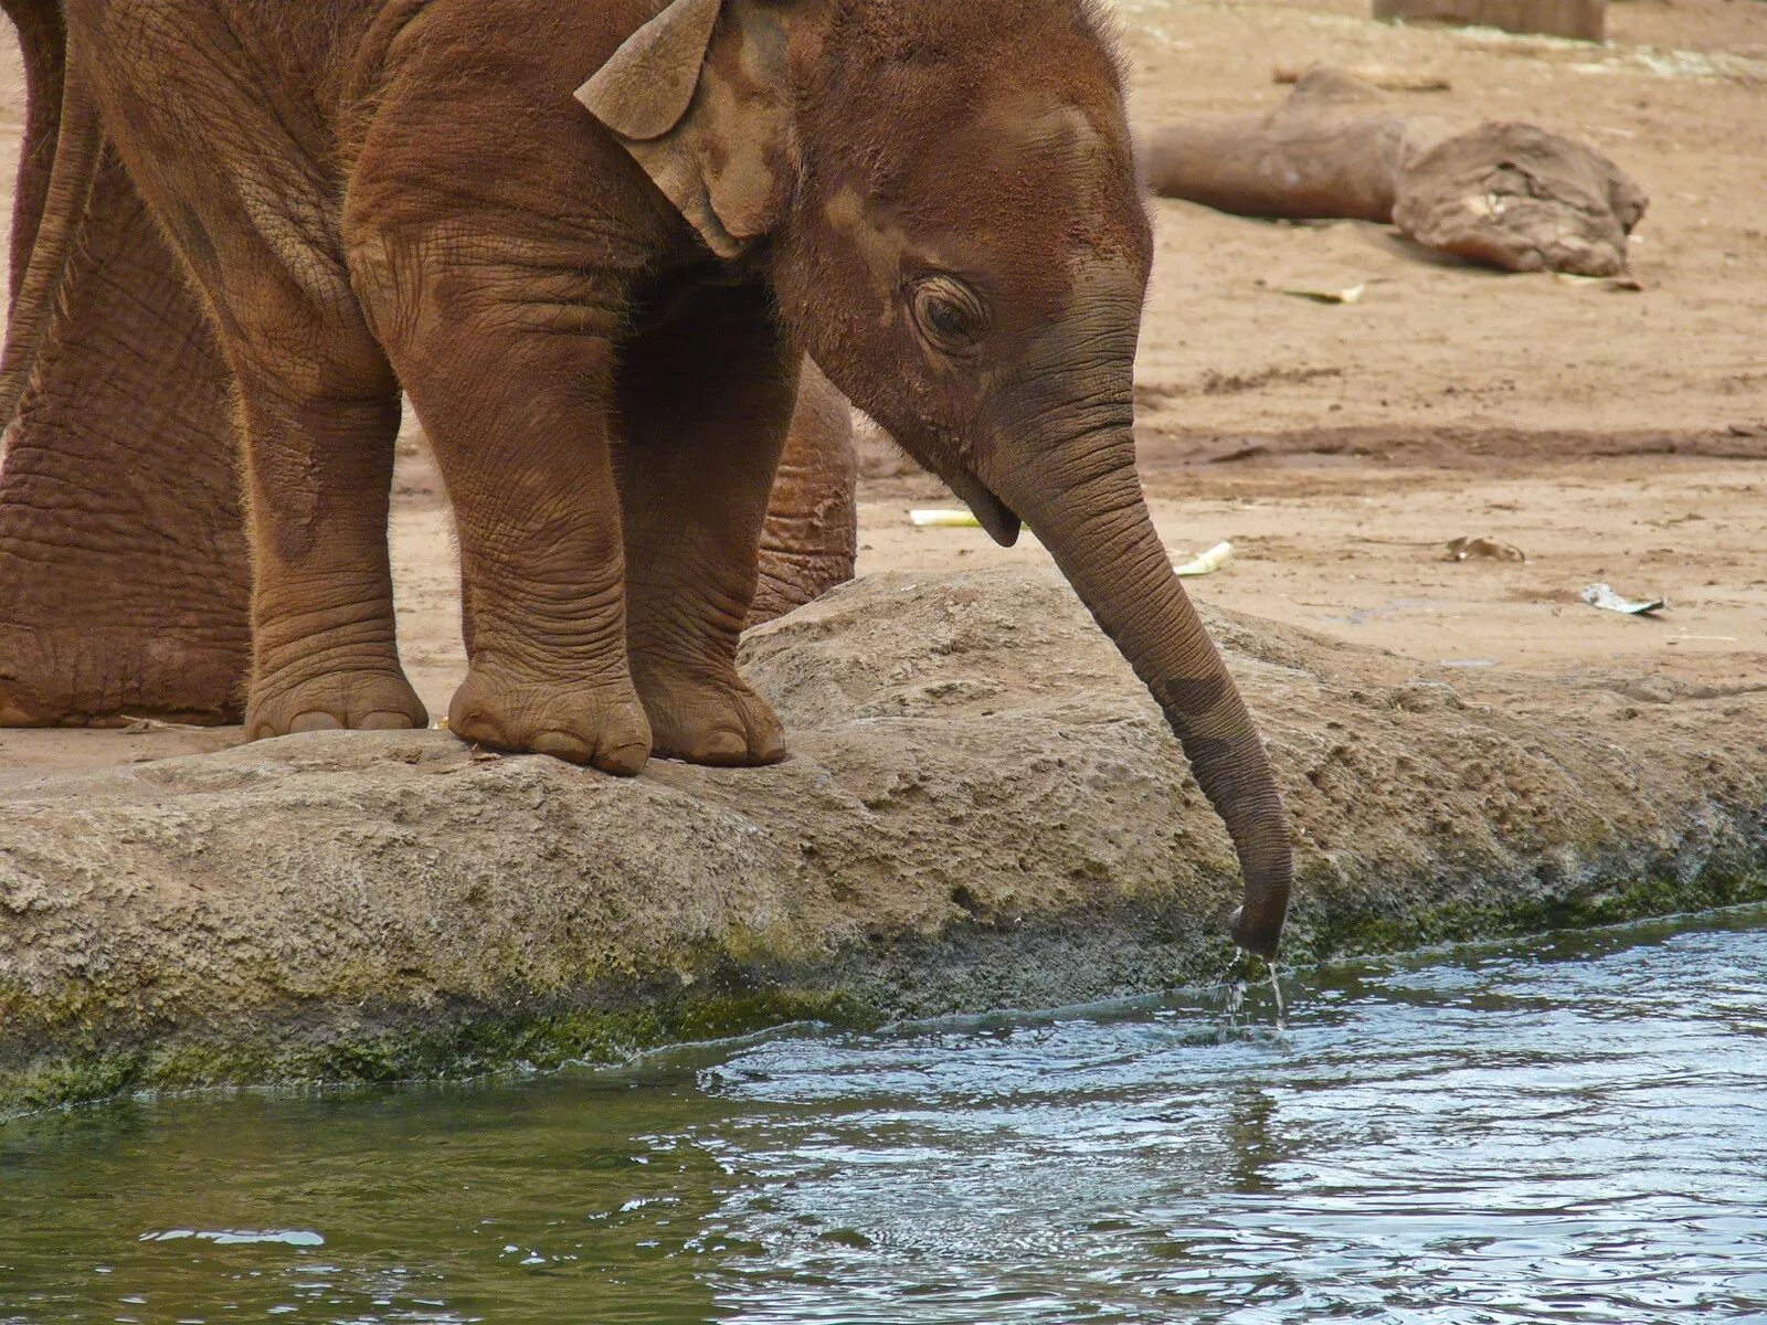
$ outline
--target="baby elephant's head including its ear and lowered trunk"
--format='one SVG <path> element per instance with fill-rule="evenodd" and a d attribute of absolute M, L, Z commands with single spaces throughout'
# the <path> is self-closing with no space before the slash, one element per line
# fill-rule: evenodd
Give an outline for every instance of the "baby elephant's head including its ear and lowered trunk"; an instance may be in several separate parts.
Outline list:
<path fill-rule="evenodd" d="M 1263 744 L 1134 466 L 1152 263 L 1088 0 L 673 0 L 580 92 L 809 355 L 1011 544 L 1020 521 L 1154 693 L 1272 956 L 1293 874 Z"/>

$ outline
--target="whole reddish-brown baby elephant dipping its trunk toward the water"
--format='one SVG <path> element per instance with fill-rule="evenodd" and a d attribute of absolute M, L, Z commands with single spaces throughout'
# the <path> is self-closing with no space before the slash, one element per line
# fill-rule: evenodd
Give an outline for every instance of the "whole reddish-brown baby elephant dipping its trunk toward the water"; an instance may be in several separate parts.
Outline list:
<path fill-rule="evenodd" d="M 808 352 L 995 539 L 1043 537 L 1233 836 L 1235 938 L 1276 950 L 1288 822 L 1134 470 L 1152 237 L 1088 0 L 64 7 L 49 198 L 102 118 L 239 383 L 258 733 L 421 721 L 403 385 L 459 526 L 458 733 L 626 774 L 779 758 L 733 659 Z"/>

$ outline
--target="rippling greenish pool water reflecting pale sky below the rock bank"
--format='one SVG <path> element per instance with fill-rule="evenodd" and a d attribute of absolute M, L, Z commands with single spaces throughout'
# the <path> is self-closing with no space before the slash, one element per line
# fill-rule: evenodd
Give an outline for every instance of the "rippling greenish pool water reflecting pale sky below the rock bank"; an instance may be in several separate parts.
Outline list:
<path fill-rule="evenodd" d="M 1767 908 L 0 1127 L 0 1321 L 1767 1321 Z"/>

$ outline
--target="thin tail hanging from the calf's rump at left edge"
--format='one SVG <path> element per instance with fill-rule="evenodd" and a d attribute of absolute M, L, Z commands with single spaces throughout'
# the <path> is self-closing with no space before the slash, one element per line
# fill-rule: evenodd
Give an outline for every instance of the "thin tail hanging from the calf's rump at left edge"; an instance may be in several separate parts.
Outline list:
<path fill-rule="evenodd" d="M 62 124 L 55 143 L 55 166 L 42 203 L 37 240 L 30 265 L 12 295 L 7 323 L 5 357 L 0 359 L 0 436 L 12 429 L 25 389 L 37 367 L 37 353 L 49 334 L 55 307 L 62 299 L 67 267 L 80 240 L 80 226 L 92 201 L 99 157 L 104 152 L 104 124 L 92 88 L 76 60 L 69 58 L 62 83 Z"/>

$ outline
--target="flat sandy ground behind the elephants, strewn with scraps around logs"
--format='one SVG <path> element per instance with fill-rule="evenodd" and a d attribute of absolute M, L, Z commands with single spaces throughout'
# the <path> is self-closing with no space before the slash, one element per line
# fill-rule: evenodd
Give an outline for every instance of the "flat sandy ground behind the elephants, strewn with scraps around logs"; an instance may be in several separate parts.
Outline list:
<path fill-rule="evenodd" d="M 1391 28 L 1359 0 L 1119 0 L 1140 118 L 1276 104 L 1278 65 L 1437 72 L 1437 115 L 1583 134 L 1652 194 L 1642 293 L 1431 260 L 1361 223 L 1244 221 L 1154 205 L 1159 263 L 1140 380 L 1143 470 L 1177 556 L 1233 565 L 1200 599 L 1461 670 L 1767 685 L 1767 4 L 1640 0 L 1606 48 Z M 19 127 L 0 69 L 0 154 Z M 1325 307 L 1281 286 L 1368 284 Z M 449 516 L 412 429 L 394 556 L 403 648 L 433 710 L 463 668 Z M 915 532 L 949 500 L 885 459 L 864 491 L 862 572 L 1039 562 L 981 534 Z M 1527 564 L 1451 564 L 1490 535 Z M 1610 581 L 1657 620 L 1583 606 Z M 1574 691 L 1573 691 L 1574 693 Z M 1567 693 L 1569 694 L 1569 693 Z M 4 733 L 14 768 L 214 749 L 233 733 Z"/>

